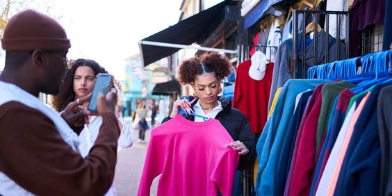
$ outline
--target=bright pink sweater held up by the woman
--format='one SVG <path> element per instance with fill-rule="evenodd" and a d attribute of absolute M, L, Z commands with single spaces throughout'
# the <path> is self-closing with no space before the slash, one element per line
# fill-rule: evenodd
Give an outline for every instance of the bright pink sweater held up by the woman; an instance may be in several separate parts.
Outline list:
<path fill-rule="evenodd" d="M 181 115 L 152 130 L 138 195 L 231 195 L 239 154 L 223 147 L 233 139 L 218 120 L 191 122 Z"/>

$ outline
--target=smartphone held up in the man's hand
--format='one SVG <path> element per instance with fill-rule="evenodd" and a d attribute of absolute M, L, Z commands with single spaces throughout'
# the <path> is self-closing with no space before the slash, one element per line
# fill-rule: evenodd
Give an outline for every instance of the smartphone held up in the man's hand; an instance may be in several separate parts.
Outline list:
<path fill-rule="evenodd" d="M 94 88 L 92 88 L 92 95 L 88 103 L 88 111 L 97 112 L 97 99 L 99 92 L 106 95 L 113 86 L 113 76 L 111 74 L 98 74 L 95 79 Z"/>

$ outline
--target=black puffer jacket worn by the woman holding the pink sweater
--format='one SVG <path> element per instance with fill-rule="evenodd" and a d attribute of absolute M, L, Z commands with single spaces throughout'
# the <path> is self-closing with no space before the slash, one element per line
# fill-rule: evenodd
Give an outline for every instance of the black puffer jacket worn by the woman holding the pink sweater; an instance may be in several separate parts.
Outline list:
<path fill-rule="evenodd" d="M 195 99 L 194 97 L 189 98 L 190 101 Z M 240 142 L 243 142 L 247 149 L 249 149 L 248 154 L 240 156 L 237 170 L 251 170 L 254 166 L 254 160 L 256 159 L 256 144 L 254 133 L 252 133 L 250 124 L 243 113 L 238 111 L 236 108 L 231 108 L 230 99 L 218 97 L 218 100 L 222 103 L 223 109 L 220 113 L 218 113 L 218 115 L 216 115 L 215 119 L 220 121 L 234 141 L 239 140 Z M 195 106 L 197 101 L 193 102 L 192 108 Z M 188 120 L 195 120 L 194 115 L 184 115 L 184 117 Z M 167 122 L 170 119 L 171 117 L 165 117 L 162 120 L 162 123 Z"/>

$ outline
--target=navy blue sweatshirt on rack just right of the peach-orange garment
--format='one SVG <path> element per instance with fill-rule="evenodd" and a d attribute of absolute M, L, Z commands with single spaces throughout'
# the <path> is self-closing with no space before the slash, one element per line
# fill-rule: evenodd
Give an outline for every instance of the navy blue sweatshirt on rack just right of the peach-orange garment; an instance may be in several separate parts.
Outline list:
<path fill-rule="evenodd" d="M 377 130 L 377 99 L 386 85 L 388 83 L 375 86 L 359 115 L 345 152 L 335 194 L 379 195 L 381 149 Z"/>

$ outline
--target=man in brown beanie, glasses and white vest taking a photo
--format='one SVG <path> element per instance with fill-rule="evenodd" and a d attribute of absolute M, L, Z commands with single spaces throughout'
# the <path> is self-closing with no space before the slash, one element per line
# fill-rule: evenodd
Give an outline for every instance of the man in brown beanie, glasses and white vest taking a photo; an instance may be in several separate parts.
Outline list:
<path fill-rule="evenodd" d="M 70 126 L 85 123 L 78 106 L 90 97 L 70 103 L 61 117 L 38 99 L 40 92 L 58 93 L 71 47 L 64 29 L 25 10 L 10 19 L 1 44 L 0 195 L 104 195 L 113 182 L 120 134 L 113 92 L 99 97 L 103 123 L 83 159 Z"/>

